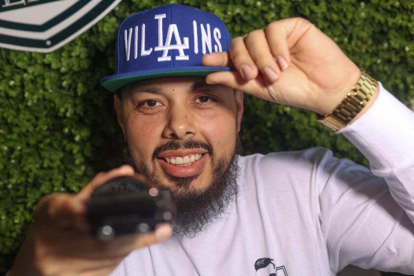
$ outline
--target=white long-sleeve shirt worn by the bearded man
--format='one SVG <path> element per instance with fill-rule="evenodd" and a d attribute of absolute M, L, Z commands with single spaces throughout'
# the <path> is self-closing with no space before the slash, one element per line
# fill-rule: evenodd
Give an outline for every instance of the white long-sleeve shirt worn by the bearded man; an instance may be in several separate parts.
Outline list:
<path fill-rule="evenodd" d="M 339 133 L 371 171 L 323 148 L 239 157 L 224 219 L 133 251 L 111 276 L 332 276 L 349 264 L 414 274 L 414 113 L 380 85 Z"/>

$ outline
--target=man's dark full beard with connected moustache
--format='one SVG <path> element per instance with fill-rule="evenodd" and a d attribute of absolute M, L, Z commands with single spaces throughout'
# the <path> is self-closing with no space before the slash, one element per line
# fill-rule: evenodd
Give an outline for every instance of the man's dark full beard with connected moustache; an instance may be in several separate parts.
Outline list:
<path fill-rule="evenodd" d="M 230 203 L 237 197 L 237 179 L 240 173 L 237 153 L 241 150 L 239 135 L 236 136 L 232 153 L 221 157 L 216 157 L 212 147 L 205 142 L 195 139 L 189 139 L 185 142 L 170 140 L 155 149 L 152 155 L 153 168 L 155 168 L 155 157 L 163 151 L 200 148 L 207 150 L 210 155 L 211 171 L 214 172 L 207 188 L 200 189 L 191 185 L 199 177 L 199 174 L 175 177 L 164 173 L 176 185 L 176 188 L 171 191 L 174 209 L 170 223 L 173 227 L 173 235 L 177 237 L 196 237 L 209 225 L 223 219 Z M 136 172 L 145 175 L 151 182 L 163 186 L 159 180 L 160 176 L 155 170 L 151 171 L 143 162 L 137 162 L 137 164 L 134 162 L 128 146 L 125 148 L 124 158 L 128 164 L 134 167 Z"/>

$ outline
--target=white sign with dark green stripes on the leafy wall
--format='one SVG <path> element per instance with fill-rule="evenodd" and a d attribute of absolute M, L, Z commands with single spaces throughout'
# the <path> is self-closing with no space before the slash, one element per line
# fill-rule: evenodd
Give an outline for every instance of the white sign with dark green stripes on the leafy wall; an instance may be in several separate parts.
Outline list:
<path fill-rule="evenodd" d="M 0 0 L 0 47 L 49 53 L 82 34 L 121 0 Z"/>

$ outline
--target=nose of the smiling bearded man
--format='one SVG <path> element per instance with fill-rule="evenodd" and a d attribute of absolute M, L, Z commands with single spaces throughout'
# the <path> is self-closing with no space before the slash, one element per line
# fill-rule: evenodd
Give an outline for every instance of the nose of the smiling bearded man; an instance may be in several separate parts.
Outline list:
<path fill-rule="evenodd" d="M 197 134 L 194 117 L 183 106 L 175 106 L 168 113 L 168 122 L 164 128 L 164 137 L 170 139 L 185 140 L 193 138 Z"/>

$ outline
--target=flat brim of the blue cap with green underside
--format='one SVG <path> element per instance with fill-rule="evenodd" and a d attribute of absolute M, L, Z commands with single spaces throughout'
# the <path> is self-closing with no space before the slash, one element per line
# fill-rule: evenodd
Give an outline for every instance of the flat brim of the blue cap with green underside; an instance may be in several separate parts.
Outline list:
<path fill-rule="evenodd" d="M 148 70 L 139 72 L 128 72 L 123 74 L 116 74 L 106 76 L 101 79 L 101 85 L 109 91 L 116 93 L 116 91 L 132 82 L 167 76 L 207 76 L 207 74 L 215 71 L 235 71 L 233 67 L 186 67 L 183 69 L 167 69 L 167 70 Z"/>

